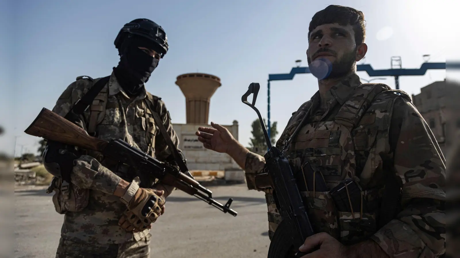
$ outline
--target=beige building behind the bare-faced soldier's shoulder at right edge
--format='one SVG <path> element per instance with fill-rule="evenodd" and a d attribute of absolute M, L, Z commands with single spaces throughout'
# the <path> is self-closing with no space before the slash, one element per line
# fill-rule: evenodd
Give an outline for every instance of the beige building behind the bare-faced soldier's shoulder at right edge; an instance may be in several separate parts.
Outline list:
<path fill-rule="evenodd" d="M 460 132 L 460 85 L 443 81 L 433 82 L 412 95 L 412 102 L 430 127 L 444 157 Z"/>

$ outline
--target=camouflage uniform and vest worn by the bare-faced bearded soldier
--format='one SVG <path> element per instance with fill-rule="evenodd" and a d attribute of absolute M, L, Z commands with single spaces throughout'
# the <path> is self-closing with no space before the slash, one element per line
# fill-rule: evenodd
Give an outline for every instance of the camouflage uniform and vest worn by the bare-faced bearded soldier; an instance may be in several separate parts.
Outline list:
<path fill-rule="evenodd" d="M 445 250 L 445 160 L 410 97 L 385 87 L 361 85 L 352 74 L 328 91 L 322 100 L 326 108 L 319 108 L 316 92 L 293 113 L 276 147 L 293 166 L 316 233 L 328 232 L 344 244 L 370 238 L 390 257 L 438 257 Z M 373 101 L 366 100 L 370 95 Z M 285 146 L 297 127 L 298 134 Z M 319 169 L 329 190 L 341 180 L 356 179 L 362 188 L 361 209 L 339 211 L 328 191 L 307 189 L 307 161 Z M 255 185 L 254 175 L 263 173 L 264 164 L 264 157 L 247 154 L 247 186 L 265 191 L 271 240 L 282 219 L 273 191 Z M 395 202 L 400 212 L 379 228 L 385 179 L 391 174 L 402 184 L 400 202 Z"/>

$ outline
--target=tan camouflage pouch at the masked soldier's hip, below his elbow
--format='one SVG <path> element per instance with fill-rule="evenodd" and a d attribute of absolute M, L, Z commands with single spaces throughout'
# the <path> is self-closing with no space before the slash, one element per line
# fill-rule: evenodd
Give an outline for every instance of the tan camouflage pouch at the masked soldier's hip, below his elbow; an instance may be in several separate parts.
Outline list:
<path fill-rule="evenodd" d="M 52 200 L 57 213 L 80 212 L 88 205 L 89 189 L 80 188 L 62 178 L 53 177 L 46 193 L 55 192 Z"/>

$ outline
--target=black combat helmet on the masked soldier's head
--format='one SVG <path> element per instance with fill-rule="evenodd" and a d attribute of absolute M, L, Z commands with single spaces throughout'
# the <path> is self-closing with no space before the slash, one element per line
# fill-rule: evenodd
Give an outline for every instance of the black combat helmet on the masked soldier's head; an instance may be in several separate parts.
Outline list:
<path fill-rule="evenodd" d="M 138 35 L 149 39 L 154 43 L 161 58 L 166 55 L 169 49 L 168 38 L 160 25 L 149 19 L 135 19 L 126 23 L 115 38 L 115 48 L 120 51 L 123 41 L 133 35 Z"/>

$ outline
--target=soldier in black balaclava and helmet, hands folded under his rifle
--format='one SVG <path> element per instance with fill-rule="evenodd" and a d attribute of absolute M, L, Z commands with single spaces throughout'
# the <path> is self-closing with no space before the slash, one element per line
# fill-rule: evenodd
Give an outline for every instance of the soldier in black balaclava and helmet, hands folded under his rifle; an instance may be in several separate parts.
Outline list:
<path fill-rule="evenodd" d="M 168 50 L 163 28 L 148 19 L 133 20 L 121 28 L 115 47 L 121 58 L 111 75 L 77 77 L 52 111 L 89 135 L 106 141 L 123 139 L 174 164 L 152 116 L 159 115 L 178 147 L 169 112 L 161 98 L 144 86 Z M 90 106 L 86 109 L 81 103 Z M 165 198 L 173 187 L 95 151 L 48 142 L 43 156 L 54 175 L 48 192 L 55 191 L 56 211 L 65 214 L 57 258 L 150 257 L 151 223 L 164 213 Z"/>

